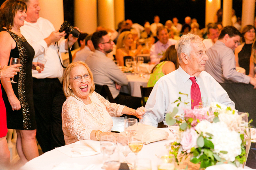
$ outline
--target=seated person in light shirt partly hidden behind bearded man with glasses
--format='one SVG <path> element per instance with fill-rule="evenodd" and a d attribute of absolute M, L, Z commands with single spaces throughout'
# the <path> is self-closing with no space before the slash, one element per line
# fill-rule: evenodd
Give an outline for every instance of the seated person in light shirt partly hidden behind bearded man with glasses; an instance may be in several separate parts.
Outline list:
<path fill-rule="evenodd" d="M 76 61 L 83 61 L 85 62 L 86 58 L 89 55 L 92 55 L 92 53 L 95 51 L 94 46 L 92 44 L 92 34 L 87 35 L 87 37 L 85 38 L 85 46 L 82 50 L 79 51 L 79 53 L 77 53 L 76 58 L 73 60 L 73 62 Z"/>

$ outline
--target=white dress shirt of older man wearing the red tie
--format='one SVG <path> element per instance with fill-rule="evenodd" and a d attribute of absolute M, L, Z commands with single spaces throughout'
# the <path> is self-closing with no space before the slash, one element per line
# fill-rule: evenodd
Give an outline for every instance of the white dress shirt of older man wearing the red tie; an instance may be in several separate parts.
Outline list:
<path fill-rule="evenodd" d="M 177 70 L 161 77 L 155 84 L 149 99 L 146 103 L 146 113 L 140 120 L 140 123 L 158 126 L 159 122 L 164 120 L 164 115 L 173 111 L 178 103 L 173 103 L 181 97 L 182 102 L 188 102 L 187 105 L 180 103 L 178 114 L 183 113 L 182 108 L 191 109 L 190 90 L 192 81 L 180 66 Z M 207 72 L 202 71 L 195 77 L 199 85 L 203 105 L 208 105 L 211 102 L 219 102 L 227 106 L 235 108 L 235 103 L 230 100 L 227 92 L 220 84 Z M 179 94 L 179 92 L 188 94 Z"/>

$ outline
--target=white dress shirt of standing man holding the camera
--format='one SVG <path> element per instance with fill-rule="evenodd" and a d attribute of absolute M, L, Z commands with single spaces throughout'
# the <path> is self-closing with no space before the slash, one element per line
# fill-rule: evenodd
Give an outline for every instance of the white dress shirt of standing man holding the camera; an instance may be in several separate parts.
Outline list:
<path fill-rule="evenodd" d="M 57 43 L 53 43 L 47 47 L 47 43 L 44 41 L 44 39 L 55 30 L 52 23 L 40 17 L 37 19 L 36 23 L 25 21 L 24 26 L 20 29 L 21 34 L 35 50 L 33 62 L 37 62 L 38 57 L 43 57 L 47 60 L 44 71 L 38 73 L 38 71 L 32 70 L 32 76 L 37 79 L 61 78 L 63 75 L 63 67 L 61 66 L 61 54 L 58 55 Z M 65 50 L 65 41 L 66 40 L 60 40 L 58 42 L 59 51 L 63 53 L 67 52 L 67 50 Z"/>

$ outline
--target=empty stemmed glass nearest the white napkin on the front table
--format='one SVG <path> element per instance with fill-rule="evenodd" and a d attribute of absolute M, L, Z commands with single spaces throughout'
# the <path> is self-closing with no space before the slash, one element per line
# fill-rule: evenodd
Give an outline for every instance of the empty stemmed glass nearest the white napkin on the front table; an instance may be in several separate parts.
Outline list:
<path fill-rule="evenodd" d="M 116 138 L 113 135 L 105 135 L 100 138 L 100 151 L 106 157 L 103 162 L 103 169 L 111 164 L 110 156 L 115 152 L 116 146 Z"/>

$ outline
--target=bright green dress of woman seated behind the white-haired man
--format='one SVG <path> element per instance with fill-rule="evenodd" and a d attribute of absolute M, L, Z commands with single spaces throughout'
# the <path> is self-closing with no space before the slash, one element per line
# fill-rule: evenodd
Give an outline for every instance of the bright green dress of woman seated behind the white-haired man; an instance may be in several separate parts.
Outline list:
<path fill-rule="evenodd" d="M 150 75 L 149 82 L 147 87 L 154 87 L 156 84 L 157 80 L 163 77 L 165 74 L 163 73 L 163 66 L 164 64 L 168 61 L 162 61 L 155 67 L 155 71 Z"/>

